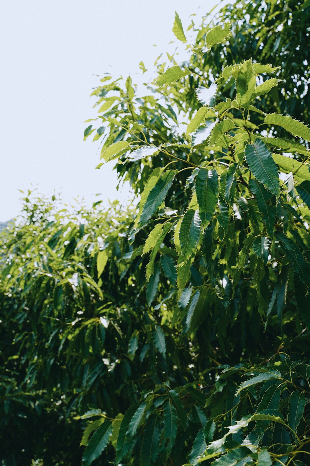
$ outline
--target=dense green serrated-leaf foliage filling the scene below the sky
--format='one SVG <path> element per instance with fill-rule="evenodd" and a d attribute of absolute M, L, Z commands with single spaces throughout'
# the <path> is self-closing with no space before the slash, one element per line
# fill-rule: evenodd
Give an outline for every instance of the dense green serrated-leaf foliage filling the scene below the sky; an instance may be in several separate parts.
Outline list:
<path fill-rule="evenodd" d="M 251 27 L 278 8 L 239 3 Z M 305 24 L 307 2 L 282 3 Z M 309 462 L 310 130 L 271 105 L 281 70 L 227 62 L 243 37 L 229 17 L 193 24 L 188 62 L 159 64 L 148 95 L 109 75 L 92 93 L 94 140 L 137 211 L 26 198 L 1 237 L 6 466 Z M 173 32 L 186 40 L 177 14 Z"/>

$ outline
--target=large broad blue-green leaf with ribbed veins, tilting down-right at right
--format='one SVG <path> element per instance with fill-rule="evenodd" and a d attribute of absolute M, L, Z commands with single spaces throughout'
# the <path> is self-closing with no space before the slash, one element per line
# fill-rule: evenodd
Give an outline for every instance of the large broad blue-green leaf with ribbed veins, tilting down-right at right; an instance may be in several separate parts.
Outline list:
<path fill-rule="evenodd" d="M 253 144 L 245 146 L 245 158 L 257 180 L 272 194 L 279 197 L 280 184 L 277 165 L 261 139 L 257 138 Z"/>

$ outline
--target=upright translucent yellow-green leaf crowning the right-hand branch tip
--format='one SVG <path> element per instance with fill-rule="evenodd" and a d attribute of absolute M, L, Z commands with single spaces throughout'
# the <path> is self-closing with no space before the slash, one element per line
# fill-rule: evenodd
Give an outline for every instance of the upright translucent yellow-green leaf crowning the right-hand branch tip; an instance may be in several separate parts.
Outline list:
<path fill-rule="evenodd" d="M 251 98 L 256 87 L 256 78 L 251 60 L 247 60 L 235 67 L 231 74 L 236 81 L 237 96 L 236 101 L 240 107 L 249 109 Z"/>

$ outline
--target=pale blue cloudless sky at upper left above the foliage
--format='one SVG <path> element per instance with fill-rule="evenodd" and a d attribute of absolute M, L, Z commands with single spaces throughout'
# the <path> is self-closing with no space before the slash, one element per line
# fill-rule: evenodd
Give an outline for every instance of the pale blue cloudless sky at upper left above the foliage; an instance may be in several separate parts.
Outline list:
<path fill-rule="evenodd" d="M 20 212 L 19 189 L 128 199 L 116 191 L 113 164 L 94 170 L 99 144 L 83 143 L 84 121 L 96 116 L 92 88 L 106 72 L 145 81 L 139 62 L 152 71 L 156 57 L 176 44 L 174 10 L 195 22 L 216 0 L 10 0 L 0 15 L 0 221 Z M 157 47 L 153 47 L 156 44 Z M 180 54 L 182 44 L 179 42 Z M 98 198 L 96 199 L 98 200 Z"/>

